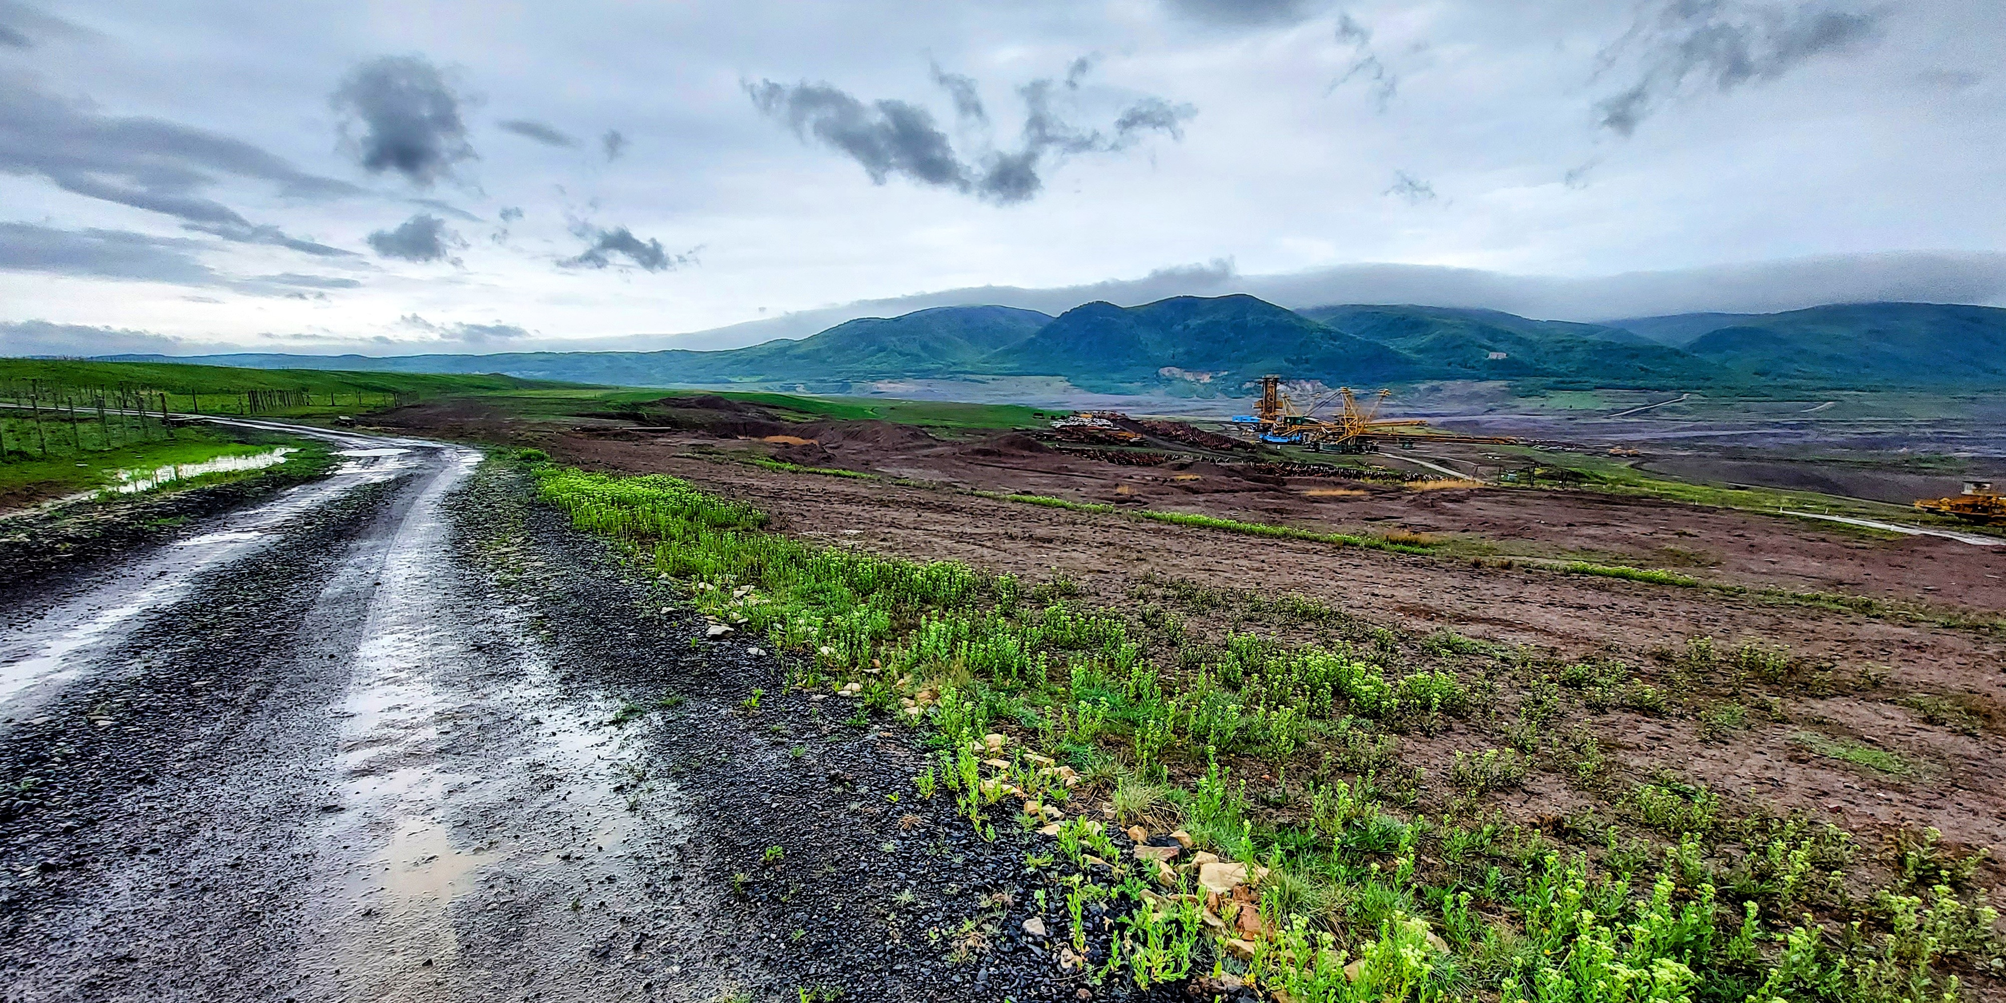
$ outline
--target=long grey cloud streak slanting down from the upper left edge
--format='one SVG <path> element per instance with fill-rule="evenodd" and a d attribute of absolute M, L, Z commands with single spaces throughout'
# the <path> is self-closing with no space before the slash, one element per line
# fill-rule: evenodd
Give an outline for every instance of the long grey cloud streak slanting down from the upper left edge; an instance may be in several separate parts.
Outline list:
<path fill-rule="evenodd" d="M 160 118 L 118 118 L 92 106 L 0 78 L 0 173 L 42 177 L 106 203 L 183 221 L 227 241 L 345 255 L 321 243 L 255 225 L 209 197 L 219 175 L 265 181 L 295 199 L 357 195 L 353 185 L 299 171 L 249 142 Z"/>

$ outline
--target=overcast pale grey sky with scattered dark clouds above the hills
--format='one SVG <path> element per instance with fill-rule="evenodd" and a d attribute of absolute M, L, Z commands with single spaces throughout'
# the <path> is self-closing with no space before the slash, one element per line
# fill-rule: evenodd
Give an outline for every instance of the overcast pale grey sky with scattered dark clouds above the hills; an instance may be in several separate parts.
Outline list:
<path fill-rule="evenodd" d="M 0 321 L 393 353 L 1075 287 L 2000 303 L 2002 48 L 1994 0 L 0 0 Z"/>

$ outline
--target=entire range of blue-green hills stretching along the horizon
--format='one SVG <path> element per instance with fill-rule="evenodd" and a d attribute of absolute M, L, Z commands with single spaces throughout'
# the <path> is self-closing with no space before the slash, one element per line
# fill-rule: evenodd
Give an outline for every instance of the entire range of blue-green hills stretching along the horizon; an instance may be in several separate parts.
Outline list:
<path fill-rule="evenodd" d="M 636 387 L 780 383 L 834 393 L 881 379 L 1043 375 L 1109 393 L 1244 395 L 1246 381 L 1264 373 L 1330 385 L 1507 379 L 1697 391 L 1964 389 L 2006 385 L 2006 309 L 1858 303 L 1589 325 L 1410 305 L 1288 311 L 1234 295 L 1174 297 L 1139 307 L 1087 303 L 1059 317 L 1011 307 L 937 307 L 730 351 L 114 359 L 508 373 Z"/>

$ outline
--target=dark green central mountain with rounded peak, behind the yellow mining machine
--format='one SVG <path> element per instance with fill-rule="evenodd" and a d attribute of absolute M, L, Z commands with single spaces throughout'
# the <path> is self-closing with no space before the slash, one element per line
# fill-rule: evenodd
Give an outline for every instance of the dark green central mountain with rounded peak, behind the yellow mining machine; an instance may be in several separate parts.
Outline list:
<path fill-rule="evenodd" d="M 1264 373 L 1372 383 L 1412 379 L 1424 369 L 1396 349 L 1246 295 L 1172 297 L 1141 307 L 1087 303 L 989 355 L 985 367 L 1063 375 L 1077 387 L 1109 391 L 1165 381 L 1238 387 Z"/>

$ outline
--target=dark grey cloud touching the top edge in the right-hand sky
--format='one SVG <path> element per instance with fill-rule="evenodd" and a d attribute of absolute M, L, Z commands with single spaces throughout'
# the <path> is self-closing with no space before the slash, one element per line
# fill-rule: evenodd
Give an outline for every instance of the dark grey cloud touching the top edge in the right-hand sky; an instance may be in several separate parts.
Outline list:
<path fill-rule="evenodd" d="M 1629 136 L 1689 88 L 1727 92 L 1870 42 L 1886 14 L 1823 0 L 1653 0 L 1597 60 L 1597 76 L 1633 80 L 1595 102 L 1597 122 Z"/>

